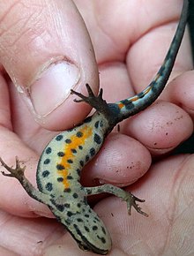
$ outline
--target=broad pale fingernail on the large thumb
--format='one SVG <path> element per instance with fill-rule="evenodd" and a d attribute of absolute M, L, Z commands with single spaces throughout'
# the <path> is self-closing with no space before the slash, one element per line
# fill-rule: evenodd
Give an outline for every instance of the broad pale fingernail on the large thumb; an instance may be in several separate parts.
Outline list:
<path fill-rule="evenodd" d="M 29 97 L 37 116 L 45 117 L 61 105 L 78 83 L 80 73 L 75 64 L 63 61 L 51 64 L 30 87 Z"/>

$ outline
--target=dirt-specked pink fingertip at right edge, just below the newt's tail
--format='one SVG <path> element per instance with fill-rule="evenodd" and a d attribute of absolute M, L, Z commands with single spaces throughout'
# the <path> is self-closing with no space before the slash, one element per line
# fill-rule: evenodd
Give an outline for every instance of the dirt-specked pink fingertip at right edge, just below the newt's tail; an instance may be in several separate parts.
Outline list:
<path fill-rule="evenodd" d="M 188 139 L 190 116 L 170 102 L 157 102 L 126 122 L 123 132 L 141 141 L 152 154 L 165 154 Z"/>

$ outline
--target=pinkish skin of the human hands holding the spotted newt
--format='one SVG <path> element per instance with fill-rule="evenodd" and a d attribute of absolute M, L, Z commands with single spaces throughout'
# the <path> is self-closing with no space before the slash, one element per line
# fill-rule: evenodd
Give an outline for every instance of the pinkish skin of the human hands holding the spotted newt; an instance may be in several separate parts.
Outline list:
<path fill-rule="evenodd" d="M 75 82 L 73 89 L 86 94 L 88 83 L 97 93 L 100 72 L 107 102 L 144 89 L 175 34 L 182 1 L 74 1 L 93 47 L 70 0 L 2 2 L 0 155 L 10 165 L 18 155 L 35 184 L 37 162 L 49 139 L 91 110 L 73 102 L 75 95 L 61 97 L 63 87 L 68 84 L 68 91 Z M 67 72 L 72 77 L 62 72 L 59 81 L 53 79 L 51 64 L 64 60 L 67 69 L 76 63 Z M 83 171 L 85 185 L 112 183 L 146 200 L 141 207 L 148 218 L 135 211 L 127 215 L 125 203 L 115 197 L 94 199 L 94 210 L 113 240 L 111 256 L 194 251 L 194 159 L 192 154 L 165 156 L 193 132 L 192 66 L 186 31 L 160 99 L 120 124 L 120 132 L 116 127 Z M 152 155 L 162 158 L 152 163 Z M 31 199 L 16 179 L 1 176 L 0 207 L 0 255 L 86 255 L 48 207 Z"/>

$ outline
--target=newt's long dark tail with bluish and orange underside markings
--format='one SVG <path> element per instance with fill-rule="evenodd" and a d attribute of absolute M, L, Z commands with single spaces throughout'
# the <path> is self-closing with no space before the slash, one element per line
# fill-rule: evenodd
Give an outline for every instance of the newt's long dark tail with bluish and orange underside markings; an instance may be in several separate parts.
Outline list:
<path fill-rule="evenodd" d="M 170 44 L 168 53 L 160 67 L 159 72 L 157 72 L 155 78 L 149 84 L 149 86 L 131 98 L 116 102 L 115 104 L 117 106 L 114 103 L 109 104 L 112 109 L 117 109 L 117 111 L 119 109 L 119 119 L 121 121 L 137 114 L 143 109 L 146 109 L 159 97 L 160 93 L 166 86 L 169 75 L 172 72 L 173 65 L 175 64 L 175 57 L 183 39 L 184 29 L 188 19 L 188 9 L 189 1 L 184 0 L 180 21 L 176 28 L 175 36 Z"/>

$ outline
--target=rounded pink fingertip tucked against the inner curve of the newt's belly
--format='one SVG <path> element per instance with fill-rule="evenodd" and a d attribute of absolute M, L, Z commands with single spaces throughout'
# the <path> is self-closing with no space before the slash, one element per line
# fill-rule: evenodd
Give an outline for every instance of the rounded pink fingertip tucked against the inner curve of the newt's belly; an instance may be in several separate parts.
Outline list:
<path fill-rule="evenodd" d="M 149 151 L 136 139 L 113 132 L 101 151 L 83 170 L 82 184 L 127 186 L 142 177 L 151 165 Z"/>

